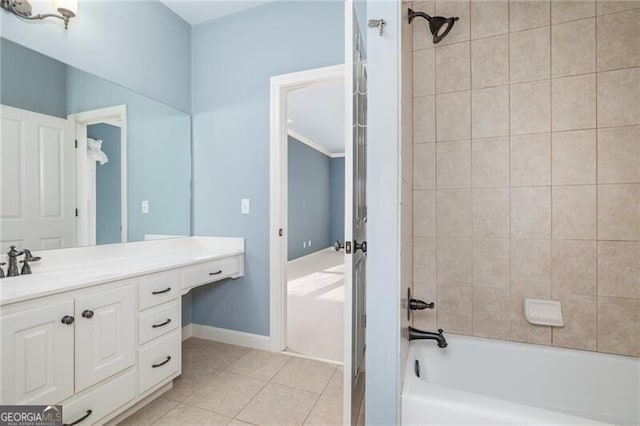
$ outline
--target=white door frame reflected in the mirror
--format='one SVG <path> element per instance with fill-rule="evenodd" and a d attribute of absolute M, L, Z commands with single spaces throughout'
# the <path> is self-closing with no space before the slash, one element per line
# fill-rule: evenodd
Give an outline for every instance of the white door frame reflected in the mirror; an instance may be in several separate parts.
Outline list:
<path fill-rule="evenodd" d="M 87 127 L 92 124 L 106 123 L 120 128 L 120 194 L 121 194 L 121 218 L 122 229 L 120 231 L 120 238 L 123 243 L 128 240 L 128 205 L 127 205 L 127 105 L 117 105 L 113 107 L 94 109 L 91 111 L 84 111 L 77 114 L 71 114 L 68 116 L 69 120 L 75 122 L 76 141 L 78 142 L 78 152 L 76 153 L 76 180 L 77 180 L 77 201 L 78 206 L 84 206 L 86 204 L 86 191 L 84 185 L 84 179 L 80 176 L 81 168 L 84 170 L 84 162 L 81 161 L 81 152 L 86 150 L 87 140 Z M 79 209 L 77 220 L 77 242 L 80 245 L 81 237 L 85 236 L 87 227 L 86 208 Z M 85 236 L 86 237 L 86 236 Z M 83 245 L 86 245 L 87 238 L 84 238 Z"/>

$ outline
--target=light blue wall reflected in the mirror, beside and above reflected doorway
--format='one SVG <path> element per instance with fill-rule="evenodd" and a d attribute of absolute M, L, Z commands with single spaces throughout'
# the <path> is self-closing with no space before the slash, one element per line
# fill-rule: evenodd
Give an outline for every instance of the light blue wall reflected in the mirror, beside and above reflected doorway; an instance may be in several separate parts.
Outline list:
<path fill-rule="evenodd" d="M 127 106 L 128 240 L 190 234 L 190 117 L 163 103 L 69 67 L 69 114 Z M 149 201 L 149 214 L 141 212 Z"/>

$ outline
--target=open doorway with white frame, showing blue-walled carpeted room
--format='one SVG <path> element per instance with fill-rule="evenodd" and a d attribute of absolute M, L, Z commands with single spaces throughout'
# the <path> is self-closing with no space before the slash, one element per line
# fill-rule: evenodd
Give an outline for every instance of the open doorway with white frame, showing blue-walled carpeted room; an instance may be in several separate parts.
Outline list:
<path fill-rule="evenodd" d="M 321 122 L 333 117 L 331 91 L 340 122 Z M 344 194 L 334 191 L 343 203 L 332 209 L 330 186 L 331 162 L 344 164 L 344 67 L 272 77 L 271 100 L 271 349 L 342 363 L 344 251 L 333 245 L 344 238 L 344 222 L 334 220 L 332 234 L 331 215 L 344 218 Z M 329 315 L 331 333 L 321 333 Z"/>

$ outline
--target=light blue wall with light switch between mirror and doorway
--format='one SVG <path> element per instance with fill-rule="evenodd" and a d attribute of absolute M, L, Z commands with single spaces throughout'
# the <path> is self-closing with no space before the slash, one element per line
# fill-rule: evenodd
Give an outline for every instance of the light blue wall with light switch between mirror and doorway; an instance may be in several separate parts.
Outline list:
<path fill-rule="evenodd" d="M 269 334 L 269 80 L 344 63 L 343 8 L 273 2 L 192 30 L 193 231 L 246 238 L 245 276 L 195 289 L 194 323 Z"/>

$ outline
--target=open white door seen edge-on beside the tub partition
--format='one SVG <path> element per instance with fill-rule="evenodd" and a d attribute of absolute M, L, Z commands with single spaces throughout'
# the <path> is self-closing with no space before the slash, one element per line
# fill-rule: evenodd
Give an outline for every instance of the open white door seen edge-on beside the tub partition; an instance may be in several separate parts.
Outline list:
<path fill-rule="evenodd" d="M 355 424 L 365 385 L 367 71 L 353 2 L 345 4 L 345 355 L 343 422 Z"/>

